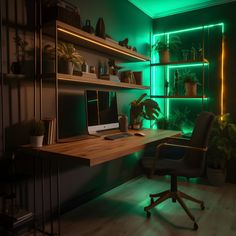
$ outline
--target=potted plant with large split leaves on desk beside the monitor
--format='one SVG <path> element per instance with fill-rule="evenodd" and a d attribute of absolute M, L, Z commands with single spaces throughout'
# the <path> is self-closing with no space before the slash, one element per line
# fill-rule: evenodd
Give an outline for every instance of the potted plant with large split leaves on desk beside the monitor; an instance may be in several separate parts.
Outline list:
<path fill-rule="evenodd" d="M 142 128 L 142 119 L 157 120 L 160 112 L 158 103 L 152 99 L 144 99 L 147 94 L 142 94 L 137 100 L 131 102 L 130 124 L 132 129 Z"/>

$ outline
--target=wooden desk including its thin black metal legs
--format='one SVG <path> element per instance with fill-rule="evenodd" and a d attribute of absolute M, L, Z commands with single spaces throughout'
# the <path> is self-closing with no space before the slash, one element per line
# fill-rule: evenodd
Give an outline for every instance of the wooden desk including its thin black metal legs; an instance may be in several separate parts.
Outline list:
<path fill-rule="evenodd" d="M 136 131 L 129 131 L 130 133 L 135 133 Z M 95 137 L 91 139 L 84 139 L 79 141 L 65 142 L 65 143 L 56 143 L 53 145 L 43 146 L 42 148 L 31 148 L 29 146 L 23 147 L 22 151 L 32 156 L 40 161 L 46 160 L 48 161 L 48 166 L 50 168 L 50 221 L 51 221 L 51 232 L 47 232 L 48 235 L 54 235 L 54 220 L 52 214 L 52 172 L 51 172 L 51 161 L 62 159 L 76 159 L 78 161 L 78 165 L 86 165 L 86 166 L 96 166 L 111 160 L 115 160 L 126 155 L 132 154 L 134 152 L 143 150 L 146 144 L 156 142 L 159 140 L 163 140 L 168 137 L 178 136 L 180 135 L 180 131 L 173 130 L 151 130 L 146 129 L 142 130 L 142 133 L 145 133 L 145 136 L 130 136 L 126 138 L 120 138 L 116 140 L 105 140 L 104 137 Z M 35 160 L 36 160 L 35 159 Z M 44 169 L 43 164 L 41 164 L 42 168 L 42 232 L 45 232 L 45 208 L 44 208 Z M 36 168 L 36 167 L 35 167 Z M 56 180 L 56 191 L 57 191 L 57 214 L 58 214 L 58 235 L 61 234 L 60 227 L 60 208 L 61 208 L 61 200 L 60 200 L 60 167 L 58 162 L 56 161 L 57 168 L 57 180 Z M 36 176 L 34 176 L 34 202 L 35 202 L 35 180 Z M 34 203 L 34 207 L 36 204 Z M 34 209 L 35 212 L 35 209 Z"/>

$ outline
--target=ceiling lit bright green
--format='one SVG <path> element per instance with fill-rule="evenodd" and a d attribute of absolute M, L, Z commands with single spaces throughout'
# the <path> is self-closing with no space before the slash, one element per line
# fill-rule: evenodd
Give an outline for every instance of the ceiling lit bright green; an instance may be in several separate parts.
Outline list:
<path fill-rule="evenodd" d="M 128 0 L 151 18 L 215 6 L 236 0 Z"/>

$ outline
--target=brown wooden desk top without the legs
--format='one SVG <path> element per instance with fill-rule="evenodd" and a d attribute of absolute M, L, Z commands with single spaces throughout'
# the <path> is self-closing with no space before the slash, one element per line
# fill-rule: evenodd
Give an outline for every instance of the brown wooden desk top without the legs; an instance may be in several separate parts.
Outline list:
<path fill-rule="evenodd" d="M 135 131 L 129 131 L 135 133 Z M 145 145 L 168 137 L 180 135 L 173 130 L 142 130 L 145 136 L 130 136 L 116 140 L 95 137 L 73 142 L 56 143 L 42 148 L 26 148 L 32 153 L 45 157 L 73 158 L 86 166 L 95 166 L 134 152 L 143 150 Z M 30 149 L 30 150 L 29 150 Z M 24 148 L 25 150 L 25 148 Z"/>

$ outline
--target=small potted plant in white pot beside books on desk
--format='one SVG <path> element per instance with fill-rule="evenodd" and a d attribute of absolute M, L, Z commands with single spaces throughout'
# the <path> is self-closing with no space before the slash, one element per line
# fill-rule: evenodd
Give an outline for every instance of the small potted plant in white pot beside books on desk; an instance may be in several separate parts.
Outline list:
<path fill-rule="evenodd" d="M 42 147 L 45 127 L 43 121 L 33 120 L 30 126 L 30 144 L 32 147 Z"/>

